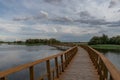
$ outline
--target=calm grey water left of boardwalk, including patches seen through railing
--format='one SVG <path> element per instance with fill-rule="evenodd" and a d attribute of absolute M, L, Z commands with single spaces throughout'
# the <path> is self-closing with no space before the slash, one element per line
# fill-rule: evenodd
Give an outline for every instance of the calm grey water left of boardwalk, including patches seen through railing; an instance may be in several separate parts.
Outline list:
<path fill-rule="evenodd" d="M 54 47 L 41 46 L 26 46 L 26 45 L 0 45 L 0 71 L 15 67 L 21 64 L 32 62 L 50 55 L 61 52 Z M 42 65 L 42 67 L 41 67 Z M 35 66 L 36 76 L 45 72 L 45 63 Z M 41 67 L 41 68 L 40 68 Z M 38 73 L 38 70 L 39 73 Z M 28 80 L 29 70 L 23 70 L 8 76 L 9 80 Z M 27 74 L 26 74 L 27 73 Z"/>

